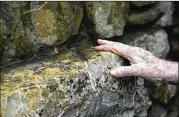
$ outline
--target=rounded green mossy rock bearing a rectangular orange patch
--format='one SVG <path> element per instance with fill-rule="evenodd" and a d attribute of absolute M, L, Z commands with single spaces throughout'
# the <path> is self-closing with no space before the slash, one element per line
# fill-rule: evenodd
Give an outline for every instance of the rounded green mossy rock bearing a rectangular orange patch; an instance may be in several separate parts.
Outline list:
<path fill-rule="evenodd" d="M 37 43 L 60 45 L 77 35 L 83 18 L 83 9 L 78 4 L 44 2 L 34 5 L 37 6 L 38 10 L 32 12 Z"/>

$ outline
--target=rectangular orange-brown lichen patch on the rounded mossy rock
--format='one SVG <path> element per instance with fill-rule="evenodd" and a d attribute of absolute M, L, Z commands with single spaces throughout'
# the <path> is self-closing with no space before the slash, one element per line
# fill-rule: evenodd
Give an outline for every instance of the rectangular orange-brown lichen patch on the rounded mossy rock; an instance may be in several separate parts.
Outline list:
<path fill-rule="evenodd" d="M 37 37 L 40 38 L 47 38 L 49 35 L 54 34 L 54 15 L 53 12 L 50 10 L 37 10 L 35 14 L 36 18 L 36 28 L 37 28 Z"/>

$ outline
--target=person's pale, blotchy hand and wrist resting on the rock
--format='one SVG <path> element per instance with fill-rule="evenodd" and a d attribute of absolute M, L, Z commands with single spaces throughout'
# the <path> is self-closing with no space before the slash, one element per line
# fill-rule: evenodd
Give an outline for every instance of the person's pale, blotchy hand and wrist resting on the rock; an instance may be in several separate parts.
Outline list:
<path fill-rule="evenodd" d="M 122 43 L 100 40 L 96 50 L 113 52 L 129 60 L 131 66 L 121 66 L 112 69 L 114 77 L 138 76 L 150 81 L 160 81 L 178 84 L 178 63 L 162 60 L 149 51 Z"/>

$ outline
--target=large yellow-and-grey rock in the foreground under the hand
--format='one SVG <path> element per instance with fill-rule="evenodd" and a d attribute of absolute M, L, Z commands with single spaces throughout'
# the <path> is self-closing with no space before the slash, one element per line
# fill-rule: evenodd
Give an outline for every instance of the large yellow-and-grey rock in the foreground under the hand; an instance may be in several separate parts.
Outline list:
<path fill-rule="evenodd" d="M 137 78 L 112 78 L 119 56 L 88 43 L 45 61 L 7 68 L 1 84 L 2 116 L 146 117 L 151 102 Z"/>

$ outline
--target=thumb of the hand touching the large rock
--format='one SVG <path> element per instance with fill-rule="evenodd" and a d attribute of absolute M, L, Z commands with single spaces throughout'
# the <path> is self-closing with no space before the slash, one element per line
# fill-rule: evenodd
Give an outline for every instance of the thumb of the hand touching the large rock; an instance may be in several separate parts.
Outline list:
<path fill-rule="evenodd" d="M 139 71 L 139 66 L 121 66 L 119 68 L 112 69 L 110 74 L 114 77 L 138 76 Z"/>

